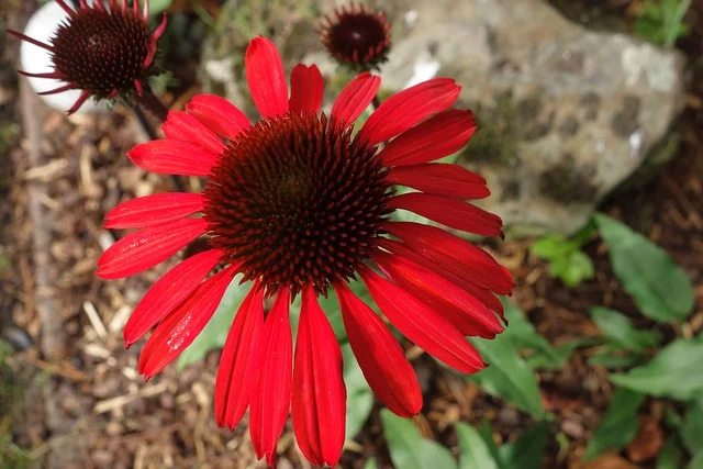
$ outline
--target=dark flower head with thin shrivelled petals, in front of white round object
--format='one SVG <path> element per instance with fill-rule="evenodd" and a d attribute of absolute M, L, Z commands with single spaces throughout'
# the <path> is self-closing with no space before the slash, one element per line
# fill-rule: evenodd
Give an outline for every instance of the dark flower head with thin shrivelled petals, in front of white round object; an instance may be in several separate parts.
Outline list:
<path fill-rule="evenodd" d="M 129 98 L 134 92 L 141 96 L 146 80 L 154 72 L 156 41 L 166 29 L 166 15 L 152 33 L 147 24 L 148 0 L 144 1 L 143 8 L 140 8 L 138 0 L 134 0 L 132 7 L 127 7 L 126 0 L 122 0 L 120 5 L 118 0 L 110 0 L 109 8 L 102 0 L 91 5 L 80 0 L 79 8 L 75 10 L 65 0 L 56 0 L 56 3 L 68 18 L 48 44 L 8 30 L 8 33 L 52 53 L 53 71 L 19 72 L 64 82 L 40 94 L 81 90 L 68 114 L 76 112 L 91 96 L 97 99 Z"/>

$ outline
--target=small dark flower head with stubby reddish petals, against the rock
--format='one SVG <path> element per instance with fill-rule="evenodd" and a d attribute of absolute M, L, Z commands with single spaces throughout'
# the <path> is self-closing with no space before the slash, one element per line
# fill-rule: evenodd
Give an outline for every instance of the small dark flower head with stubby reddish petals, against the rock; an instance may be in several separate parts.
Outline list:
<path fill-rule="evenodd" d="M 386 13 L 352 3 L 325 16 L 320 37 L 339 63 L 356 70 L 371 70 L 388 59 L 390 29 Z"/>

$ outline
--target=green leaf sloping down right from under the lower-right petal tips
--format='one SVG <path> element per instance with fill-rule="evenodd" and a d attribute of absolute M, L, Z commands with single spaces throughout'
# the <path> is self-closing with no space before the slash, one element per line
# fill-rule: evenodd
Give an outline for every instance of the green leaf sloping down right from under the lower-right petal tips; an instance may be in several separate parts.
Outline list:
<path fill-rule="evenodd" d="M 499 335 L 492 340 L 472 338 L 489 367 L 468 377 L 488 393 L 512 402 L 535 420 L 544 417 L 537 378 L 520 357 L 510 337 Z"/>

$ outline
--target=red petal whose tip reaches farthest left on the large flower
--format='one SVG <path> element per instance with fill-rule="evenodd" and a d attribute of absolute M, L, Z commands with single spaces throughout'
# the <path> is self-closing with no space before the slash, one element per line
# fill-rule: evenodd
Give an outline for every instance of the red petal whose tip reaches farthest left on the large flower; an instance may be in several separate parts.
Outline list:
<path fill-rule="evenodd" d="M 168 259 L 207 231 L 203 219 L 182 219 L 130 233 L 102 253 L 96 275 L 119 279 L 140 273 Z"/>

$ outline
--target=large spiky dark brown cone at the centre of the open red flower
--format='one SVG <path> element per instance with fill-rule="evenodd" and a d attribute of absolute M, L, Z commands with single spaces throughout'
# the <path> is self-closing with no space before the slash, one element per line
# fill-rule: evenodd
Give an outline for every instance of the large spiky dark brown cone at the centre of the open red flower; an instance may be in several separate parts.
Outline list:
<path fill-rule="evenodd" d="M 232 142 L 204 190 L 213 247 L 268 292 L 348 279 L 375 246 L 390 185 L 376 147 L 324 114 L 261 121 Z"/>

